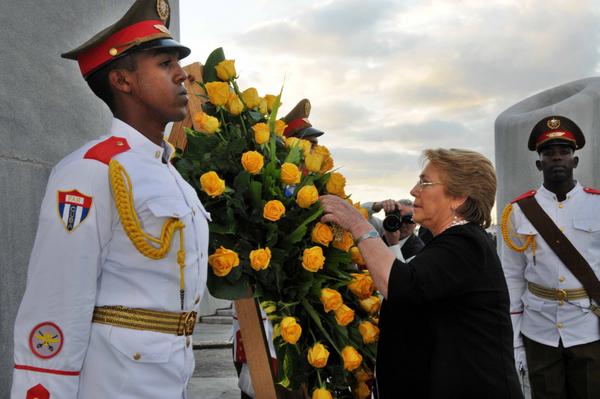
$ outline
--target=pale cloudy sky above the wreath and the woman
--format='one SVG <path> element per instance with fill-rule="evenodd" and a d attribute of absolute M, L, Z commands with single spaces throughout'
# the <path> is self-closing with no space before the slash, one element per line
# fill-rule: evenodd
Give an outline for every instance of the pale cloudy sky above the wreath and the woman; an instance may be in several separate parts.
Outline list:
<path fill-rule="evenodd" d="M 356 201 L 411 198 L 431 147 L 494 160 L 494 120 L 600 72 L 600 0 L 180 0 L 186 61 L 217 47 L 242 89 L 300 99 Z"/>

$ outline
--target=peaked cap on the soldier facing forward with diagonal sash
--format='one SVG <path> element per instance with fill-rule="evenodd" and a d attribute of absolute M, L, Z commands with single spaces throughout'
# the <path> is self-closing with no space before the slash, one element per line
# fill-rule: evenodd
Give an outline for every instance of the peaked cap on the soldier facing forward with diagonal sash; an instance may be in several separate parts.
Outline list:
<path fill-rule="evenodd" d="M 574 150 L 583 148 L 585 137 L 575 122 L 564 116 L 548 116 L 533 127 L 527 147 L 539 151 L 550 144 L 565 144 Z"/>

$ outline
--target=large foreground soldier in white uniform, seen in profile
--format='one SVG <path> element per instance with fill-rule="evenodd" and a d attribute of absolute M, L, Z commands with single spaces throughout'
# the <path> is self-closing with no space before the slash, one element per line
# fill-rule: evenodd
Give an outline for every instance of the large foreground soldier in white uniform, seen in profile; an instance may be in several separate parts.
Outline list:
<path fill-rule="evenodd" d="M 14 331 L 13 399 L 186 397 L 209 215 L 171 165 L 190 50 L 137 0 L 64 54 L 115 119 L 52 171 Z"/>

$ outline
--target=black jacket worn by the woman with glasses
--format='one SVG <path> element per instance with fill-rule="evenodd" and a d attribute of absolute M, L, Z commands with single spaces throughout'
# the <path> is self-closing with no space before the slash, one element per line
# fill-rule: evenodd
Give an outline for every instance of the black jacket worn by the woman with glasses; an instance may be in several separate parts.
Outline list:
<path fill-rule="evenodd" d="M 377 351 L 380 399 L 522 399 L 500 260 L 474 224 L 394 262 Z"/>

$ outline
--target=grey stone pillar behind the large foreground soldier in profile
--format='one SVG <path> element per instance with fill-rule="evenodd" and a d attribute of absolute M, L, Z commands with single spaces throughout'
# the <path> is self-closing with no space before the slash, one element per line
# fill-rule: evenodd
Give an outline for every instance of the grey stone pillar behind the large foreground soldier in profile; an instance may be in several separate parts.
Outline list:
<path fill-rule="evenodd" d="M 170 3 L 171 31 L 178 35 L 179 2 Z M 131 4 L 133 0 L 2 2 L 0 399 L 8 399 L 10 391 L 13 324 L 50 170 L 110 127 L 108 108 L 89 90 L 77 63 L 61 59 L 60 53 L 115 22 Z"/>

